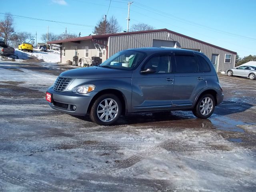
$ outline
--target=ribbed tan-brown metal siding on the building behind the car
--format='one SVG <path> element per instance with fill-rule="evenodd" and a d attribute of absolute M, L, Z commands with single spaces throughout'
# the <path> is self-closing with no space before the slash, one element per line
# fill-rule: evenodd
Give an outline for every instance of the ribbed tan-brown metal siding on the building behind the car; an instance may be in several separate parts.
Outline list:
<path fill-rule="evenodd" d="M 169 37 L 168 37 L 169 34 Z M 212 54 L 219 54 L 218 72 L 225 71 L 235 66 L 236 54 L 191 40 L 169 32 L 152 32 L 144 34 L 131 34 L 109 37 L 108 54 L 113 54 L 129 48 L 152 47 L 153 39 L 177 41 L 181 48 L 200 49 L 210 60 Z M 231 54 L 231 62 L 224 63 L 225 54 Z"/>

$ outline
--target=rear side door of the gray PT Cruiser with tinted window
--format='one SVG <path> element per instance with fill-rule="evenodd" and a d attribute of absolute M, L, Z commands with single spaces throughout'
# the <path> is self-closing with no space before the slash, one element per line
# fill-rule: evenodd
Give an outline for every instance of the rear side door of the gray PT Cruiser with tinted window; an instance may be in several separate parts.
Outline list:
<path fill-rule="evenodd" d="M 198 70 L 198 59 L 194 53 L 174 52 L 176 69 L 175 84 L 172 96 L 172 108 L 188 108 L 200 90 L 205 88 L 204 72 Z"/>

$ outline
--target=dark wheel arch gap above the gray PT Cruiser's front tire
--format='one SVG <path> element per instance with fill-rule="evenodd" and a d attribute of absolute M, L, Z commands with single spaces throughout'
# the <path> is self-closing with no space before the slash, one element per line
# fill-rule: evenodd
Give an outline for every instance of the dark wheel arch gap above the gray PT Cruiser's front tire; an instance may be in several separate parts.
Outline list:
<path fill-rule="evenodd" d="M 105 90 L 101 90 L 100 92 L 98 92 L 91 100 L 88 109 L 87 109 L 87 114 L 90 113 L 92 105 L 94 104 L 95 100 L 97 98 L 99 98 L 100 96 L 104 95 L 104 94 L 114 94 L 116 95 L 121 103 L 122 103 L 122 115 L 126 114 L 126 110 L 127 110 L 127 101 L 126 98 L 124 96 L 124 94 L 120 91 L 120 90 L 116 90 L 116 89 L 105 89 Z"/>

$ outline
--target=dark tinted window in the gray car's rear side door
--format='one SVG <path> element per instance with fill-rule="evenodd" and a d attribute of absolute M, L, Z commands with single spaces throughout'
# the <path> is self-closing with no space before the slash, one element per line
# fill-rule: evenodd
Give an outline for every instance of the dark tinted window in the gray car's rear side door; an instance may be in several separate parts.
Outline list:
<path fill-rule="evenodd" d="M 194 55 L 176 55 L 176 73 L 198 72 L 198 64 Z"/>

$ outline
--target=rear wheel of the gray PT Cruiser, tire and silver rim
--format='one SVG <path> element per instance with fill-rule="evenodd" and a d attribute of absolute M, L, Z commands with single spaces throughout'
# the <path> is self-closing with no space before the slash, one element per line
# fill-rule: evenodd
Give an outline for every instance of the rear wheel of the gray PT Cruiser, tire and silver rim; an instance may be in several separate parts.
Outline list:
<path fill-rule="evenodd" d="M 205 94 L 197 101 L 192 112 L 197 118 L 206 119 L 212 115 L 214 108 L 214 97 L 211 94 Z"/>

